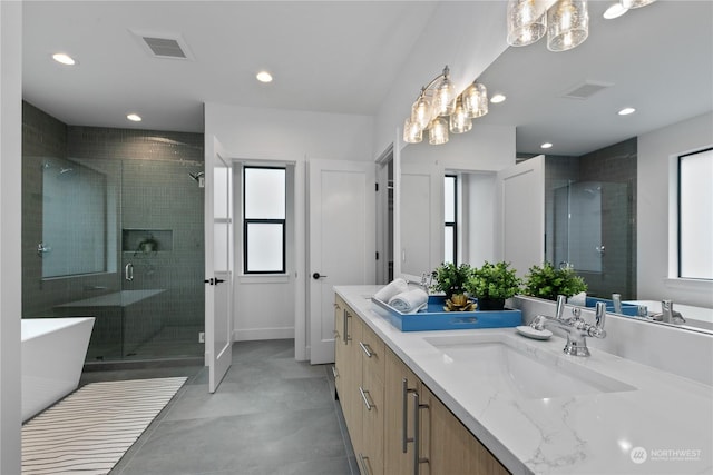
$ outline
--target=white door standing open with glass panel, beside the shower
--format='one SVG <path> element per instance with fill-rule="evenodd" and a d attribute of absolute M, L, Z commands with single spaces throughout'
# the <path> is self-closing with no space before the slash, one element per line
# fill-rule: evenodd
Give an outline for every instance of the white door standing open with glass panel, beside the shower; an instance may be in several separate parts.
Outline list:
<path fill-rule="evenodd" d="M 215 393 L 233 359 L 233 174 L 217 140 L 206 147 L 209 150 L 205 167 L 205 357 L 208 390 Z"/>

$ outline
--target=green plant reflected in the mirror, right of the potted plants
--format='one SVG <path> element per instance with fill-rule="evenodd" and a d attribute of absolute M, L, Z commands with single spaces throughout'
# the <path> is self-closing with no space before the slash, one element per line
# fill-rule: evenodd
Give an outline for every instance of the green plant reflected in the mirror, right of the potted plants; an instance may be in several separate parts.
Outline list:
<path fill-rule="evenodd" d="M 525 295 L 557 300 L 558 295 L 572 297 L 587 291 L 587 284 L 572 267 L 555 268 L 551 264 L 533 266 L 525 276 Z"/>

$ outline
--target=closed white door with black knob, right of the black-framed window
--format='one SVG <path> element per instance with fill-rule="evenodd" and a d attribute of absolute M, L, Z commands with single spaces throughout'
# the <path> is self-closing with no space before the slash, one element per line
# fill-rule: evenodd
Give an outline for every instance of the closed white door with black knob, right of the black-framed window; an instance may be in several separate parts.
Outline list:
<path fill-rule="evenodd" d="M 334 286 L 375 281 L 375 165 L 310 160 L 310 360 L 334 362 Z"/>

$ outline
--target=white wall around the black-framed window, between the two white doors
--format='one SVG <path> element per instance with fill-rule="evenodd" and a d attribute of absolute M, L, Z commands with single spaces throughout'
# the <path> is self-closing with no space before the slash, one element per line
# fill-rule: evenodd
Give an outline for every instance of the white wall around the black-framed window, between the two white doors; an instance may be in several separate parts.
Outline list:
<path fill-rule="evenodd" d="M 374 119 L 369 116 L 205 105 L 205 136 L 216 137 L 234 160 L 295 164 L 294 260 L 287 277 L 236 276 L 235 338 L 285 338 L 294 335 L 297 359 L 306 358 L 306 190 L 310 159 L 372 161 Z M 237 220 L 237 218 L 236 218 Z M 236 249 L 240 250 L 240 249 Z M 296 275 L 295 275 L 296 273 Z M 305 278 L 306 277 L 306 278 Z M 272 307 L 265 303 L 275 301 Z"/>

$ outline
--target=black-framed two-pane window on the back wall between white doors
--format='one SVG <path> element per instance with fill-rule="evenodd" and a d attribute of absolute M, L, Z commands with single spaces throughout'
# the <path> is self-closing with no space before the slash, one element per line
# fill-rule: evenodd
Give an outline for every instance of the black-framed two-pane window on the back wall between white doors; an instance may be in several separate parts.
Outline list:
<path fill-rule="evenodd" d="M 243 168 L 243 273 L 284 274 L 286 170 Z"/>

